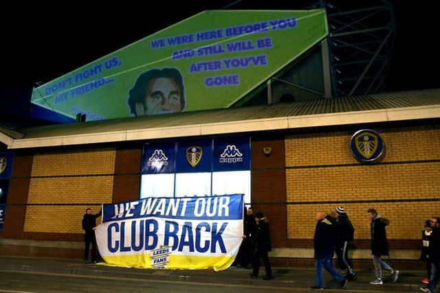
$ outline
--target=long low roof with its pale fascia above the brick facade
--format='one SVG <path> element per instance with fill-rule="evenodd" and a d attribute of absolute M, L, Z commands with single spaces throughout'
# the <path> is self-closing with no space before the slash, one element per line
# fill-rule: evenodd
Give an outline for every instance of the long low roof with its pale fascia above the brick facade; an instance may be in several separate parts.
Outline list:
<path fill-rule="evenodd" d="M 440 118 L 440 89 L 14 130 L 0 128 L 0 142 L 9 149 L 42 148 L 432 118 Z"/>

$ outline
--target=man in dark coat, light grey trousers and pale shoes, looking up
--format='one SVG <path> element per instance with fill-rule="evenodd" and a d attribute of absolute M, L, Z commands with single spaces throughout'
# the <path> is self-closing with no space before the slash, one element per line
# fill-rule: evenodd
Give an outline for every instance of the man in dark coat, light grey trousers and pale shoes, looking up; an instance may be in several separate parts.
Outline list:
<path fill-rule="evenodd" d="M 399 271 L 392 268 L 388 263 L 381 259 L 382 255 L 388 255 L 388 240 L 386 239 L 385 227 L 389 221 L 382 218 L 375 209 L 368 209 L 367 213 L 371 220 L 371 254 L 373 255 L 373 264 L 376 274 L 376 279 L 370 282 L 371 285 L 382 285 L 382 267 L 391 272 L 391 279 L 397 282 L 399 279 Z"/>

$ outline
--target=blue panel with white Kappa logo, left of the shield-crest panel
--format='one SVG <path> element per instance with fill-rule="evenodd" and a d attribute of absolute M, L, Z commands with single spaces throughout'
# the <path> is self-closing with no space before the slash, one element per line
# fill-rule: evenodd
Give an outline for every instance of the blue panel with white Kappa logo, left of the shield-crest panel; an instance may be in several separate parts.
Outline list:
<path fill-rule="evenodd" d="M 142 151 L 142 174 L 175 172 L 175 143 L 146 143 Z"/>

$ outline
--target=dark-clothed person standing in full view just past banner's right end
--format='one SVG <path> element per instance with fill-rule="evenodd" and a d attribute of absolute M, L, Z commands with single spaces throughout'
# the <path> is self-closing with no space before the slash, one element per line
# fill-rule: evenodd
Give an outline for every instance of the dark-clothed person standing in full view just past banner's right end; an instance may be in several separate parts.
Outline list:
<path fill-rule="evenodd" d="M 261 212 L 255 213 L 256 221 L 256 235 L 252 237 L 254 240 L 254 260 L 252 263 L 253 270 L 250 274 L 251 277 L 258 277 L 260 270 L 260 259 L 263 259 L 264 268 L 266 274 L 263 276 L 264 280 L 273 279 L 272 268 L 270 266 L 269 255 L 267 254 L 272 250 L 270 242 L 269 220 Z"/>

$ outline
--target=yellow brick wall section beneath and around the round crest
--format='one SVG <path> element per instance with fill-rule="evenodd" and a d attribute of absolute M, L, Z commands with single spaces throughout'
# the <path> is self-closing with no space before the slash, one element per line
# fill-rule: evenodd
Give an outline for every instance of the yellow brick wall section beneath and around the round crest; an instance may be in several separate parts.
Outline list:
<path fill-rule="evenodd" d="M 440 130 L 375 130 L 385 141 L 386 155 L 374 165 L 351 155 L 354 131 L 285 137 L 289 239 L 312 239 L 316 212 L 338 205 L 349 213 L 355 238 L 369 239 L 366 209 L 373 207 L 391 220 L 389 239 L 414 239 L 410 243 L 415 248 L 424 220 L 440 213 L 438 201 L 430 201 L 440 194 Z"/>

